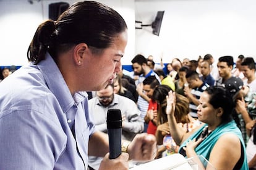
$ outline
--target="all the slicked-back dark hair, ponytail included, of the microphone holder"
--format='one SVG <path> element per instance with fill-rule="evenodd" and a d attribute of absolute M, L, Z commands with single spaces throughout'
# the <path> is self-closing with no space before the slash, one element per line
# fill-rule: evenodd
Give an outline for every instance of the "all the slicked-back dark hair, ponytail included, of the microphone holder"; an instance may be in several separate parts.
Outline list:
<path fill-rule="evenodd" d="M 28 48 L 28 61 L 38 64 L 47 51 L 56 61 L 58 54 L 79 43 L 86 43 L 92 53 L 101 53 L 126 29 L 126 22 L 114 9 L 95 1 L 75 2 L 56 22 L 41 23 Z"/>

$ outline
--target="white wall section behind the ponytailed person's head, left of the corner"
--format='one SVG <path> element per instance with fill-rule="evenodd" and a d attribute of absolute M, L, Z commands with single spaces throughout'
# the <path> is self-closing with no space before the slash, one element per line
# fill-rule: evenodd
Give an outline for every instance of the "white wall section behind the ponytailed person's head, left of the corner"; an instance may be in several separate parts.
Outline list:
<path fill-rule="evenodd" d="M 27 49 L 36 28 L 48 19 L 48 5 L 54 0 L 0 0 L 0 66 L 22 66 L 27 63 Z M 74 0 L 62 1 L 73 4 Z M 129 27 L 126 54 L 122 62 L 130 64 L 129 56 L 135 54 L 135 11 L 134 0 L 100 0 L 113 7 L 126 20 Z"/>

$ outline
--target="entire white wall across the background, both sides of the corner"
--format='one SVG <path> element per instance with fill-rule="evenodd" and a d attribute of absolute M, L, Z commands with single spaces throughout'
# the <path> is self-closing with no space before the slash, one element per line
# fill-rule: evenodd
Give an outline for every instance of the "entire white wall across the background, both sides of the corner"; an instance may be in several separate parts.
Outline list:
<path fill-rule="evenodd" d="M 64 0 L 72 4 L 75 0 Z M 27 63 L 27 48 L 37 26 L 48 18 L 48 4 L 57 0 L 0 0 L 0 66 Z M 156 62 L 173 57 L 197 59 L 210 53 L 220 56 L 256 56 L 255 0 L 101 0 L 118 11 L 129 27 L 122 64 L 135 54 L 153 54 Z M 144 24 L 165 11 L 160 36 L 151 28 L 135 30 L 134 20 Z"/>

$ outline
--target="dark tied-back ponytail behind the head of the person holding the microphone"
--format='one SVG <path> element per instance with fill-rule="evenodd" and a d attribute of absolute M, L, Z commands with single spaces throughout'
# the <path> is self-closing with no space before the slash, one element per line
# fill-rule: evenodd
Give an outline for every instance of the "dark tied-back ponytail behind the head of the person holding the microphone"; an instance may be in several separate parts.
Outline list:
<path fill-rule="evenodd" d="M 28 61 L 38 64 L 45 59 L 46 51 L 53 48 L 53 38 L 55 34 L 55 25 L 53 20 L 46 20 L 37 28 L 33 40 L 27 51 Z"/>

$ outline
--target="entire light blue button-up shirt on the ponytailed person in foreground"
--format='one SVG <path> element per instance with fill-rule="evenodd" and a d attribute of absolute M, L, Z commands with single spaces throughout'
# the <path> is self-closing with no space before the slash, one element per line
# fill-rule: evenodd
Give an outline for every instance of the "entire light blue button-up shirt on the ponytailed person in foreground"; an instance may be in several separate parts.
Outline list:
<path fill-rule="evenodd" d="M 0 169 L 87 169 L 95 127 L 49 54 L 0 83 Z"/>

